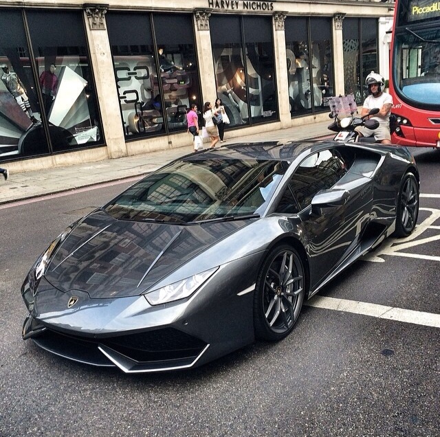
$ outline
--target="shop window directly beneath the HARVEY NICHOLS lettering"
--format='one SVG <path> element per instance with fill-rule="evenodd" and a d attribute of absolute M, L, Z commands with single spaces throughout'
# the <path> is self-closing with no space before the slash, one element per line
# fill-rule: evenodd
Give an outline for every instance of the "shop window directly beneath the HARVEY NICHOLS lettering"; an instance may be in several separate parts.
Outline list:
<path fill-rule="evenodd" d="M 217 97 L 228 126 L 278 120 L 272 18 L 211 16 L 210 34 Z"/>

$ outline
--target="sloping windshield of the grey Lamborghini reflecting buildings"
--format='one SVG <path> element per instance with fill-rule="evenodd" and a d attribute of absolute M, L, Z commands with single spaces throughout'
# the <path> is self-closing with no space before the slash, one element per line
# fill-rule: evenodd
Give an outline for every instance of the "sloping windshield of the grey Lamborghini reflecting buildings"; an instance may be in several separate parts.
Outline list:
<path fill-rule="evenodd" d="M 259 159 L 181 159 L 148 175 L 104 210 L 120 220 L 199 223 L 263 212 L 288 164 Z"/>

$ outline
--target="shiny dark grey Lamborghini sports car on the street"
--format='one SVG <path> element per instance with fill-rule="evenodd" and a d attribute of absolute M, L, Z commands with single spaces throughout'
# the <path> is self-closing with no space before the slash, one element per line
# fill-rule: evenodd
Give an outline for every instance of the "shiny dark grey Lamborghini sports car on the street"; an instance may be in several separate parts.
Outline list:
<path fill-rule="evenodd" d="M 23 339 L 75 361 L 157 372 L 291 333 L 362 254 L 408 236 L 406 148 L 236 144 L 177 159 L 69 226 L 21 293 Z"/>

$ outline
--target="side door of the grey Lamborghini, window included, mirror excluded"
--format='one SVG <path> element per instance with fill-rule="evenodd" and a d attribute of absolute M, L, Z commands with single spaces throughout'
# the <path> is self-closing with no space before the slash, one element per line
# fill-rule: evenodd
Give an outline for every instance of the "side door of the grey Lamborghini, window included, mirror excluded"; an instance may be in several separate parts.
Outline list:
<path fill-rule="evenodd" d="M 329 148 L 307 157 L 287 189 L 303 222 L 313 289 L 358 247 L 371 211 L 371 179 L 351 174 L 338 149 Z M 312 208 L 316 194 L 328 190 L 344 194 L 341 201 Z"/>

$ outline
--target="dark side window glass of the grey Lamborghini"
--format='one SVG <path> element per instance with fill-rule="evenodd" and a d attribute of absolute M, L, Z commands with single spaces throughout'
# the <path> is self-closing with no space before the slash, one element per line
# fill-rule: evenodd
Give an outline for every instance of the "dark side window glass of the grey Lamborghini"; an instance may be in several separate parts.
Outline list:
<path fill-rule="evenodd" d="M 307 157 L 292 175 L 277 212 L 294 214 L 307 208 L 315 194 L 334 186 L 347 171 L 336 149 L 321 150 Z"/>

